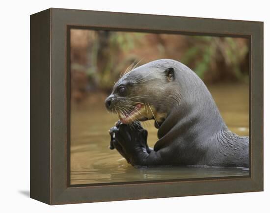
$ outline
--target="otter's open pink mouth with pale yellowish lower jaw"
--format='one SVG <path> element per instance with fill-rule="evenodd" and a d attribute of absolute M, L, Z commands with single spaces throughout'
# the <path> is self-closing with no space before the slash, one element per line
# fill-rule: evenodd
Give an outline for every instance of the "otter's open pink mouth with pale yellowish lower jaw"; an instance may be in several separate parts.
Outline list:
<path fill-rule="evenodd" d="M 142 112 L 144 111 L 143 104 L 137 104 L 129 111 L 125 111 L 122 113 L 118 113 L 119 119 L 123 124 L 131 123 L 134 120 L 138 120 L 138 118 L 142 117 Z"/>

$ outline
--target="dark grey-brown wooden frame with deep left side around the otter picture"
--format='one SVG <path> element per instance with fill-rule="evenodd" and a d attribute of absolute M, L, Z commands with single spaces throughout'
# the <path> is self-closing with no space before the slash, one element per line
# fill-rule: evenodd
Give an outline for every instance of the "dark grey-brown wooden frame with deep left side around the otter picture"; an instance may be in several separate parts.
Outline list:
<path fill-rule="evenodd" d="M 164 32 L 249 39 L 250 175 L 69 184 L 69 30 Z M 263 22 L 51 8 L 30 16 L 30 197 L 69 204 L 263 190 Z"/>

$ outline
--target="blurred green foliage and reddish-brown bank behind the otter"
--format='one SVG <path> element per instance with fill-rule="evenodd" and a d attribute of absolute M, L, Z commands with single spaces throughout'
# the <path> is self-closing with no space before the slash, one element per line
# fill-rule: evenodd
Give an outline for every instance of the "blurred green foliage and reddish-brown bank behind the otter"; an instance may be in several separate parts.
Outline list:
<path fill-rule="evenodd" d="M 207 84 L 248 82 L 248 40 L 244 38 L 71 30 L 71 95 L 110 93 L 121 72 L 171 58 L 186 64 Z"/>

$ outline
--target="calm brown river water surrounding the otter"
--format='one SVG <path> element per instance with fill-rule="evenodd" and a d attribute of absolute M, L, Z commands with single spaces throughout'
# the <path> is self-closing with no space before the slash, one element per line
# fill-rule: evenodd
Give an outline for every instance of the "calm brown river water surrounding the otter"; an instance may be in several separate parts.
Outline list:
<path fill-rule="evenodd" d="M 223 119 L 232 132 L 248 135 L 248 85 L 209 86 Z M 151 181 L 248 175 L 241 168 L 154 167 L 134 168 L 108 148 L 108 130 L 117 116 L 108 114 L 104 95 L 89 97 L 81 104 L 72 103 L 71 112 L 71 184 Z M 148 144 L 157 141 L 153 121 L 143 122 Z"/>

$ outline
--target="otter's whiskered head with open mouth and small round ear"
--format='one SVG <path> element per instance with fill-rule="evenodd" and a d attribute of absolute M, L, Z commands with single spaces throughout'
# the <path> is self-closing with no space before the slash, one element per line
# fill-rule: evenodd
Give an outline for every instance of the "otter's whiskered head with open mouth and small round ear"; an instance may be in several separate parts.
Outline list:
<path fill-rule="evenodd" d="M 105 106 L 108 111 L 117 113 L 122 123 L 154 119 L 158 128 L 173 102 L 178 101 L 175 90 L 172 90 L 175 83 L 174 68 L 145 64 L 115 83 Z"/>

